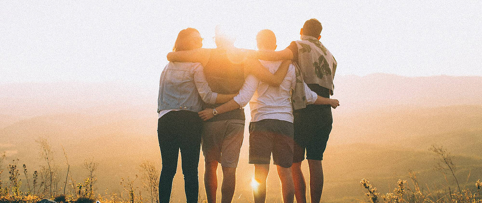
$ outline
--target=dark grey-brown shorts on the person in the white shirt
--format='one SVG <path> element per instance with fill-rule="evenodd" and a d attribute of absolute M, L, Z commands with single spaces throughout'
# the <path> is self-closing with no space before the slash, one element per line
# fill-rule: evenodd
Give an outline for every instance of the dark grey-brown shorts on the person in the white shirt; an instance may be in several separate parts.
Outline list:
<path fill-rule="evenodd" d="M 293 123 L 263 119 L 249 123 L 249 163 L 273 163 L 284 168 L 293 164 Z"/>

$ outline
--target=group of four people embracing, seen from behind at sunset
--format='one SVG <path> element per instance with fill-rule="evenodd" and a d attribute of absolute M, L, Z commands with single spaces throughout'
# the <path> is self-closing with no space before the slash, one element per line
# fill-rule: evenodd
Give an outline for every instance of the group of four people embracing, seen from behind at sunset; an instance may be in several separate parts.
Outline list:
<path fill-rule="evenodd" d="M 301 40 L 282 51 L 265 29 L 256 36 L 258 51 L 234 47 L 234 40 L 216 28 L 217 48 L 204 49 L 198 30 L 181 30 L 169 64 L 161 73 L 158 137 L 162 169 L 161 203 L 169 203 L 179 150 L 187 203 L 197 203 L 198 164 L 202 144 L 204 185 L 208 203 L 216 203 L 218 164 L 223 171 L 221 203 L 231 203 L 236 168 L 244 137 L 245 115 L 251 108 L 249 163 L 259 188 L 254 202 L 266 199 L 271 154 L 281 180 L 284 203 L 306 203 L 301 162 L 308 160 L 311 202 L 320 202 L 321 160 L 332 128 L 331 108 L 336 61 L 321 44 L 321 23 L 305 22 Z"/>

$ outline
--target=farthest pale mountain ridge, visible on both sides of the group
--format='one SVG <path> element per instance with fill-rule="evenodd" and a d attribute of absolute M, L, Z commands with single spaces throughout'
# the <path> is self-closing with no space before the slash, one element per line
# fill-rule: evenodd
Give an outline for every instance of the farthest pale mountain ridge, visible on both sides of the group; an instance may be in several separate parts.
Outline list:
<path fill-rule="evenodd" d="M 143 82 L 4 84 L 0 85 L 0 111 L 7 119 L 129 110 L 155 116 L 158 88 L 157 83 Z M 377 107 L 482 104 L 482 77 L 404 77 L 383 73 L 362 77 L 340 75 L 335 77 L 335 95 L 332 98 L 340 100 L 337 112 Z M 2 125 L 3 122 L 0 122 L 0 127 Z"/>

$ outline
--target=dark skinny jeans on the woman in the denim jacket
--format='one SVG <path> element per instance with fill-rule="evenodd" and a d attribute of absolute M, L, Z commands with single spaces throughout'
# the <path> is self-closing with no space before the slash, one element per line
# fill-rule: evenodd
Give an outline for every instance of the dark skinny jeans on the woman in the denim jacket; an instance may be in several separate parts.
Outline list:
<path fill-rule="evenodd" d="M 171 111 L 159 119 L 157 134 L 162 158 L 159 178 L 160 203 L 169 203 L 171 199 L 179 149 L 187 203 L 198 202 L 201 128 L 202 120 L 198 117 L 198 113 L 192 111 Z"/>

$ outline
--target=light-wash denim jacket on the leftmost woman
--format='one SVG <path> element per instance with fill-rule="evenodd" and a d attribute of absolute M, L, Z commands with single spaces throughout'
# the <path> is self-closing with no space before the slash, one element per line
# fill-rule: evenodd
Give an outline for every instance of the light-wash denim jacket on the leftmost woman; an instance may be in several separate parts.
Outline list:
<path fill-rule="evenodd" d="M 169 109 L 199 112 L 202 101 L 214 104 L 216 97 L 201 63 L 169 62 L 161 73 L 157 112 Z"/>

